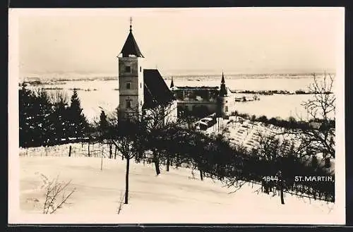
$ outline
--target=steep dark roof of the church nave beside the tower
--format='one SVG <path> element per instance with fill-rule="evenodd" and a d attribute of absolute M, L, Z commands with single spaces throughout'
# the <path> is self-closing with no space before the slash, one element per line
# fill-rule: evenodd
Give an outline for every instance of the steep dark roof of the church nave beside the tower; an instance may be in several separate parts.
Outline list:
<path fill-rule="evenodd" d="M 143 105 L 145 109 L 158 105 L 165 106 L 175 99 L 173 92 L 169 90 L 157 69 L 144 69 L 143 81 L 145 83 L 145 104 Z"/>

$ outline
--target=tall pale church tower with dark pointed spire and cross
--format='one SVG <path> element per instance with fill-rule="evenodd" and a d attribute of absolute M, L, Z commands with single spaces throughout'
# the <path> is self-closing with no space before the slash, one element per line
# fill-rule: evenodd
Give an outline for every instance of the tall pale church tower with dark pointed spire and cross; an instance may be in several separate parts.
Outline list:
<path fill-rule="evenodd" d="M 119 108 L 120 120 L 126 120 L 131 115 L 140 115 L 144 103 L 143 94 L 143 54 L 138 48 L 132 33 L 132 19 L 130 18 L 130 32 L 119 56 Z"/>

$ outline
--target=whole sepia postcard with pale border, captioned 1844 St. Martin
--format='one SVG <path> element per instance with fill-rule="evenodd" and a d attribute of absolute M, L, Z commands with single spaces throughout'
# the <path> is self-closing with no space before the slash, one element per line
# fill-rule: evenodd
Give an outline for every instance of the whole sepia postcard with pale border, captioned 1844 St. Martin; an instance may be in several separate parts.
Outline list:
<path fill-rule="evenodd" d="M 345 224 L 344 8 L 8 15 L 8 223 Z"/>

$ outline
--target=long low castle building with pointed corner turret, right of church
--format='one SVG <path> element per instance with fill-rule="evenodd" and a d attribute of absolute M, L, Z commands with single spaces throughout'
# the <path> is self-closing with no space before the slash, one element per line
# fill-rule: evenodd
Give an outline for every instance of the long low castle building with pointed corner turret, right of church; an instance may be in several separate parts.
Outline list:
<path fill-rule="evenodd" d="M 177 97 L 179 115 L 207 116 L 216 113 L 224 117 L 235 111 L 234 93 L 226 86 L 224 73 L 220 87 L 175 86 L 172 80 L 171 89 Z"/>

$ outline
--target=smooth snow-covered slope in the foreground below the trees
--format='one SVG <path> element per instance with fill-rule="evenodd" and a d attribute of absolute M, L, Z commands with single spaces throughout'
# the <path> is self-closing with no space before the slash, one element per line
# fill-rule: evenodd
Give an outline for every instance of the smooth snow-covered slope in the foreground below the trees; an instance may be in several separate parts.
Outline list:
<path fill-rule="evenodd" d="M 256 193 L 244 185 L 236 193 L 219 181 L 193 179 L 190 169 L 163 170 L 155 176 L 150 164 L 131 162 L 129 203 L 120 214 L 125 187 L 125 161 L 95 157 L 20 157 L 20 214 L 27 223 L 302 223 L 337 222 L 335 204 L 285 195 Z M 44 190 L 40 174 L 72 180 L 76 192 L 56 214 L 41 214 Z"/>

